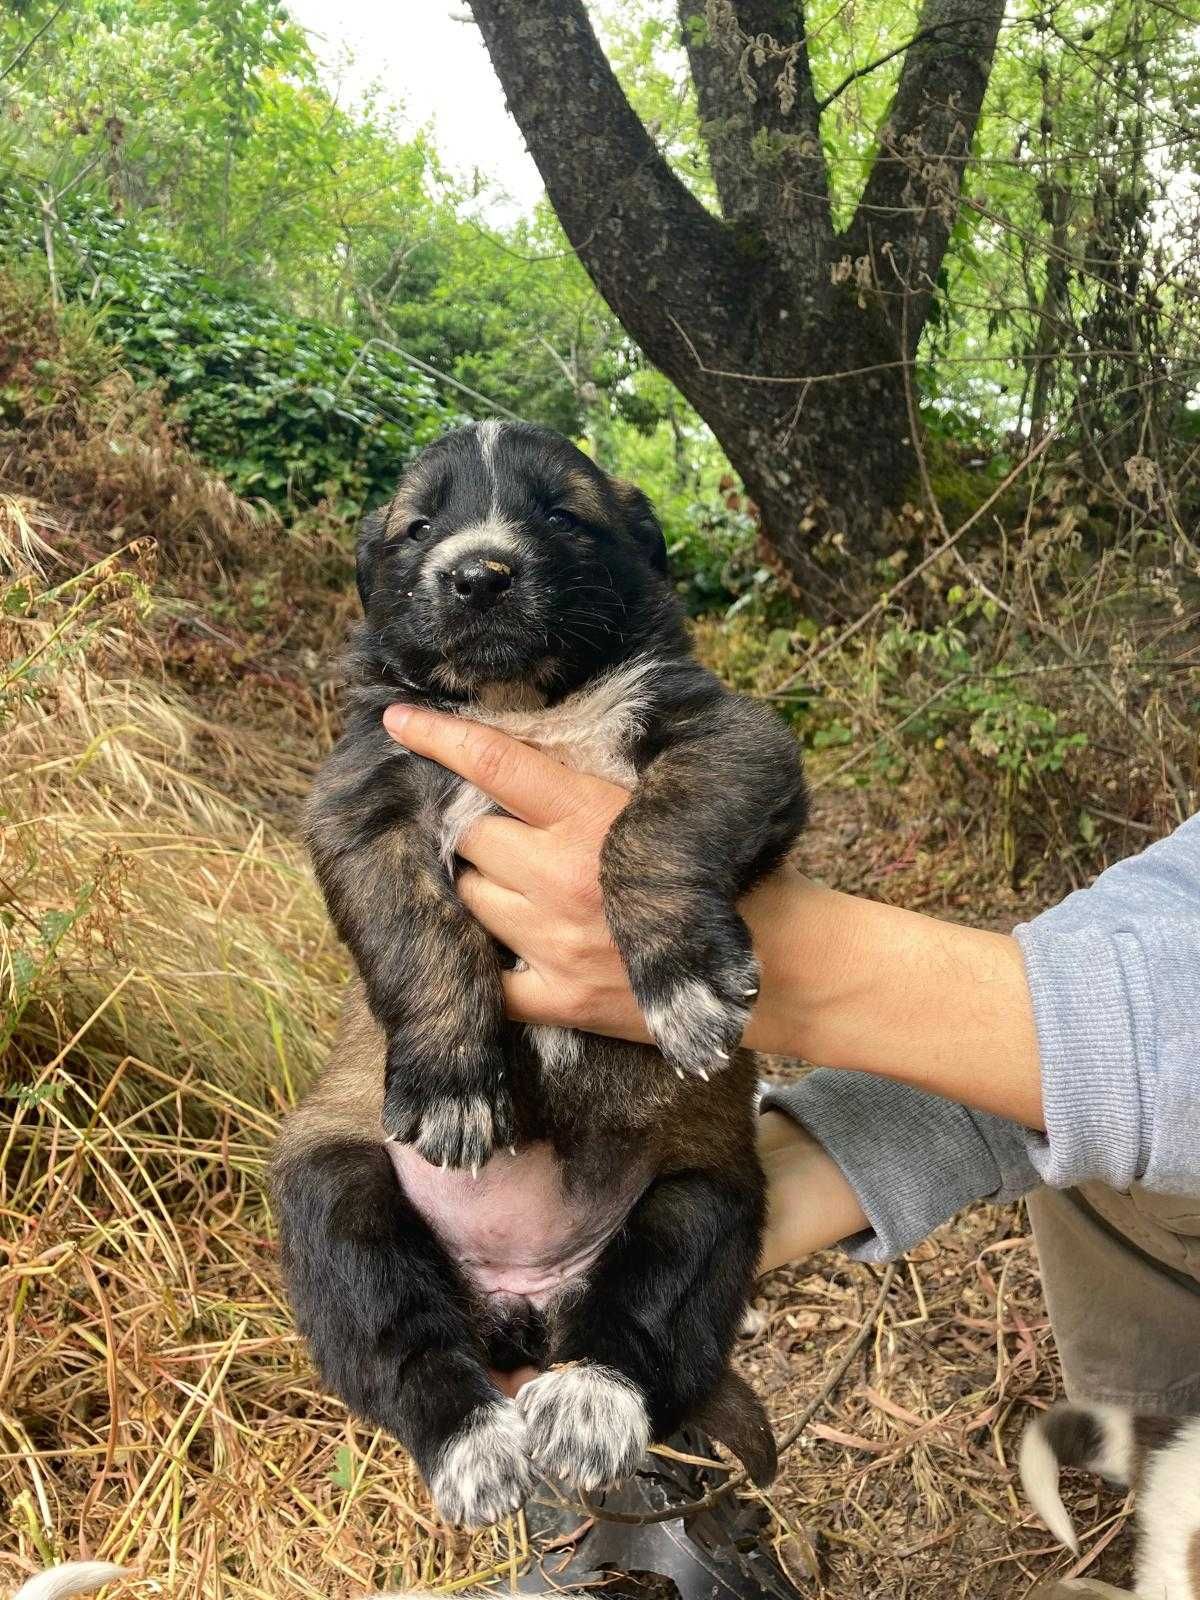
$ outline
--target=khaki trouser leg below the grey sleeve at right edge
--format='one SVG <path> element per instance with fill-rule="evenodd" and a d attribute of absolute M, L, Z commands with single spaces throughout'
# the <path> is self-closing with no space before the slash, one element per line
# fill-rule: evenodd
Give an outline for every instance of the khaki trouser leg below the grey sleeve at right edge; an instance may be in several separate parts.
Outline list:
<path fill-rule="evenodd" d="M 1200 1195 L 1038 1189 L 1029 1214 L 1067 1394 L 1200 1413 Z"/>

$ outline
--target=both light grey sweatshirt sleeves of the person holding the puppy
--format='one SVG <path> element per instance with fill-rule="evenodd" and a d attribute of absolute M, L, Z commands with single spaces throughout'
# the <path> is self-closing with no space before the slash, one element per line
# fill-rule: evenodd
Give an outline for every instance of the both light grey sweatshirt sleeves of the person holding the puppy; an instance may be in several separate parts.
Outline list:
<path fill-rule="evenodd" d="M 1042 1051 L 1046 1133 L 858 1072 L 813 1072 L 763 1106 L 802 1122 L 886 1261 L 973 1200 L 1099 1179 L 1200 1195 L 1200 816 L 1016 930 Z"/>

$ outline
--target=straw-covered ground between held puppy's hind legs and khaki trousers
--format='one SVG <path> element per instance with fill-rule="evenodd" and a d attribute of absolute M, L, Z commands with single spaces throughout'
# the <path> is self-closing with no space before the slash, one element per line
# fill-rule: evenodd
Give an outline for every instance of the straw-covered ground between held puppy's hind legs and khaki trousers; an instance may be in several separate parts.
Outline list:
<path fill-rule="evenodd" d="M 811 1394 L 872 1299 L 862 1270 L 821 1256 L 762 1285 L 766 1330 L 742 1357 L 776 1430 Z M 1126 1510 L 1074 1483 L 1083 1555 L 1032 1523 L 1013 1461 L 1056 1357 L 1016 1208 L 981 1208 L 904 1264 L 838 1403 L 766 1496 L 776 1554 L 830 1600 L 1016 1600 L 1059 1573 L 1128 1578 Z M 1117 1539 L 1114 1546 L 1110 1541 Z"/>

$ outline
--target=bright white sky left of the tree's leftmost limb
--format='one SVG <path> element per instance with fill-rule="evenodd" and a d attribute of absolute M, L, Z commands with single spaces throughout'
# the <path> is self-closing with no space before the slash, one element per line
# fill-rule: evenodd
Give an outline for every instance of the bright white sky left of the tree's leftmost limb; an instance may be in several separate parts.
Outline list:
<path fill-rule="evenodd" d="M 411 123 L 434 123 L 438 152 L 458 173 L 480 171 L 530 211 L 541 197 L 538 168 L 525 150 L 466 0 L 288 0 L 309 30 L 331 86 L 352 102 L 373 82 L 403 104 Z M 346 51 L 352 53 L 349 67 Z"/>

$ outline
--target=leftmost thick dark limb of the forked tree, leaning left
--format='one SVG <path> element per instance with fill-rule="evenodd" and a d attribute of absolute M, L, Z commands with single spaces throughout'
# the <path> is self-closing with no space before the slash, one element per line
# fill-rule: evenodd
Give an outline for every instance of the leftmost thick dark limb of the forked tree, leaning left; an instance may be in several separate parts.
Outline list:
<path fill-rule="evenodd" d="M 627 331 L 680 381 L 691 362 L 670 312 L 714 354 L 754 270 L 656 149 L 582 0 L 470 8 L 568 240 Z"/>

